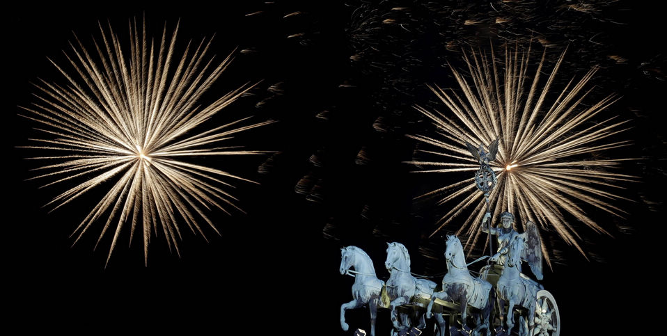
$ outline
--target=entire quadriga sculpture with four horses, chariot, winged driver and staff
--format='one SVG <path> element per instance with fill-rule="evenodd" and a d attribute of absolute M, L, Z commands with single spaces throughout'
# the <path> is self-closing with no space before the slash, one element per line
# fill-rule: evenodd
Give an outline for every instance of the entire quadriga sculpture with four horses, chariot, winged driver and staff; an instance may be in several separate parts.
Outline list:
<path fill-rule="evenodd" d="M 447 273 L 439 291 L 435 282 L 411 273 L 409 253 L 400 243 L 388 243 L 384 266 L 390 276 L 386 282 L 377 279 L 372 261 L 363 250 L 354 246 L 344 248 L 340 273 L 355 276 L 356 280 L 352 286 L 354 300 L 340 307 L 343 330 L 348 328 L 345 310 L 367 306 L 372 336 L 378 308 L 391 310 L 392 333 L 399 335 L 409 335 L 408 330 L 414 328 L 423 330 L 425 317 L 436 320 L 437 335 L 441 336 L 447 333 L 466 336 L 560 334 L 560 314 L 554 296 L 521 273 L 521 262 L 526 262 L 535 278 L 542 280 L 542 242 L 536 225 L 528 221 L 524 233 L 519 234 L 512 227 L 514 216 L 503 212 L 501 223 L 491 227 L 488 196 L 496 177 L 489 162 L 495 159 L 498 145 L 496 139 L 487 152 L 483 145 L 476 148 L 466 143 L 480 163 L 475 182 L 487 202 L 482 231 L 496 236 L 499 243 L 498 252 L 488 259 L 479 275 L 473 277 L 468 270 L 474 262 L 466 264 L 463 247 L 456 236 L 447 237 Z M 489 237 L 491 251 L 494 250 L 492 241 Z M 353 266 L 355 271 L 350 271 Z"/>

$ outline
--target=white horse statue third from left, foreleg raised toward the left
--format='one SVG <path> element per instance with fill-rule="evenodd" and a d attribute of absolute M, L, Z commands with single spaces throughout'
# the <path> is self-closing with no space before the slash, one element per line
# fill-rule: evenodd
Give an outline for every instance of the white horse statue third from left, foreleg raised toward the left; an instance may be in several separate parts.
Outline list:
<path fill-rule="evenodd" d="M 480 278 L 473 278 L 466 266 L 466 259 L 461 241 L 456 236 L 447 237 L 447 249 L 445 250 L 447 262 L 447 274 L 442 278 L 442 291 L 436 292 L 428 304 L 426 314 L 430 317 L 433 303 L 436 298 L 443 301 L 458 303 L 461 307 L 461 323 L 464 330 L 470 330 L 467 326 L 467 308 L 470 305 L 479 310 L 478 319 L 480 323 L 473 330 L 478 334 L 480 330 L 486 329 L 487 335 L 491 335 L 489 328 L 491 312 L 495 303 L 495 292 L 493 286 Z"/>

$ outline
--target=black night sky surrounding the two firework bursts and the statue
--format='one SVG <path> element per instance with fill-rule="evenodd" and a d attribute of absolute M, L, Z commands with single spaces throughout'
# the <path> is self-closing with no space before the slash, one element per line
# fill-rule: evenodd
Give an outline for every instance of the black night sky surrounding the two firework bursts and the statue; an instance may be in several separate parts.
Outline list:
<path fill-rule="evenodd" d="M 11 136 L 6 143 L 13 154 L 13 175 L 2 237 L 9 247 L 5 255 L 10 268 L 3 274 L 13 284 L 6 293 L 15 321 L 27 330 L 93 333 L 137 326 L 190 334 L 242 330 L 255 335 L 301 328 L 304 335 L 351 335 L 338 323 L 340 304 L 350 301 L 353 282 L 338 273 L 340 247 L 365 249 L 384 278 L 386 241 L 405 243 L 416 273 L 444 269 L 444 259 L 429 261 L 416 252 L 422 246 L 444 246 L 434 241 L 439 237 L 425 237 L 444 209 L 412 200 L 438 177 L 414 177 L 402 163 L 411 159 L 415 145 L 405 134 L 425 125 L 410 106 L 433 99 L 424 83 L 454 86 L 446 61 L 456 64 L 462 46 L 484 47 L 489 40 L 500 43 L 510 35 L 525 40 L 532 30 L 555 50 L 570 46 L 563 79 L 601 66 L 595 79 L 600 94 L 622 96 L 611 112 L 630 119 L 633 126 L 625 136 L 634 145 L 614 154 L 644 157 L 623 166 L 625 173 L 639 177 L 623 191 L 632 201 L 616 203 L 629 213 L 627 218 L 593 217 L 608 227 L 629 230 L 613 230 L 613 239 L 582 230 L 586 246 L 597 257 L 588 261 L 565 248 L 564 261 L 545 275 L 543 284 L 558 302 L 563 335 L 659 328 L 648 302 L 665 298 L 656 276 L 666 237 L 667 147 L 660 104 L 667 93 L 664 18 L 654 8 L 629 2 L 583 1 L 564 10 L 571 1 L 544 6 L 493 1 L 494 9 L 486 2 L 449 1 L 441 13 L 419 1 L 24 6 L 7 13 Z M 391 12 L 396 7 L 410 9 Z M 496 10 L 515 19 L 506 24 L 511 29 L 488 23 Z M 301 13 L 285 17 L 295 12 Z M 377 29 L 363 31 L 360 27 L 368 27 L 359 24 L 360 13 L 377 15 L 379 21 L 370 20 Z M 89 45 L 91 35 L 99 35 L 97 22 L 109 19 L 125 38 L 127 19 L 141 15 L 153 35 L 164 22 L 171 29 L 180 18 L 181 44 L 215 33 L 212 54 L 218 57 L 237 46 L 253 51 L 238 54 L 211 91 L 226 92 L 263 79 L 253 95 L 226 113 L 278 120 L 240 141 L 280 154 L 269 163 L 267 154 L 230 167 L 260 185 L 241 184 L 235 191 L 247 214 L 211 215 L 221 237 L 210 230 L 206 242 L 186 231 L 178 257 L 160 233 L 152 237 L 148 267 L 143 266 L 141 245 L 133 243 L 132 248 L 118 248 L 104 269 L 110 237 L 93 251 L 101 227 L 73 247 L 68 237 L 102 191 L 49 214 L 50 208 L 42 205 L 63 189 L 38 189 L 39 182 L 24 181 L 36 166 L 22 159 L 29 156 L 27 150 L 15 146 L 25 145 L 36 133 L 34 125 L 17 116 L 16 106 L 32 102 L 31 81 L 63 80 L 47 57 L 66 61 L 61 50 L 72 40 L 72 31 Z M 407 28 L 377 23 L 383 19 L 405 22 Z M 462 26 L 465 20 L 481 23 Z M 446 47 L 453 41 L 458 44 Z M 384 132 L 373 128 L 379 117 Z M 258 173 L 260 165 L 264 173 Z M 306 192 L 295 192 L 295 186 Z M 588 211 L 597 215 L 595 209 Z M 435 252 L 441 256 L 442 250 Z M 352 328 L 368 328 L 366 311 L 348 316 Z M 380 335 L 388 333 L 390 323 L 387 312 L 381 312 Z"/>

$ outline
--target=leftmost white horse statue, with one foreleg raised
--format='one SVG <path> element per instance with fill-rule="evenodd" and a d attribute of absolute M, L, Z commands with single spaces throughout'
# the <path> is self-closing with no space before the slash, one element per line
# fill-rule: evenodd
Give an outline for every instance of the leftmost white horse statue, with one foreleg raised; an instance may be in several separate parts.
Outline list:
<path fill-rule="evenodd" d="M 375 336 L 375 317 L 384 281 L 377 278 L 372 260 L 361 248 L 341 248 L 340 258 L 340 274 L 354 276 L 353 300 L 340 306 L 340 327 L 345 331 L 350 328 L 345 323 L 345 310 L 366 306 L 370 310 L 370 335 Z M 354 271 L 350 271 L 352 267 Z"/>

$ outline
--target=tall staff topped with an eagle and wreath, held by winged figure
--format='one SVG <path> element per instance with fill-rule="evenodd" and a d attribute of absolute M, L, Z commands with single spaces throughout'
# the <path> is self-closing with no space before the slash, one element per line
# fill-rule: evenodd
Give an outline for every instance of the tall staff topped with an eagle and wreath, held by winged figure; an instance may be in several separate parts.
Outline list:
<path fill-rule="evenodd" d="M 489 166 L 489 162 L 492 162 L 496 159 L 496 154 L 498 153 L 498 141 L 499 139 L 496 138 L 496 140 L 487 147 L 489 149 L 488 152 L 484 150 L 484 145 L 480 144 L 478 149 L 466 141 L 466 147 L 468 147 L 470 154 L 473 154 L 473 157 L 475 157 L 475 159 L 477 159 L 477 161 L 480 163 L 480 169 L 477 170 L 477 173 L 475 173 L 475 185 L 477 186 L 477 189 L 480 189 L 480 191 L 484 193 L 484 198 L 487 203 L 487 213 L 491 212 L 489 211 L 489 194 L 491 194 L 494 187 L 496 186 L 496 182 L 498 182 L 498 179 L 496 179 L 496 173 L 494 173 L 494 170 L 491 168 L 491 166 Z M 491 217 L 486 218 L 486 222 L 482 223 L 482 225 L 488 225 L 487 227 L 491 227 Z M 489 253 L 493 254 L 493 239 L 491 239 L 490 230 L 488 233 Z"/>

